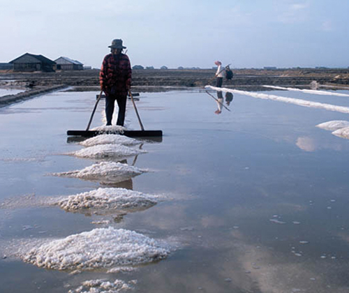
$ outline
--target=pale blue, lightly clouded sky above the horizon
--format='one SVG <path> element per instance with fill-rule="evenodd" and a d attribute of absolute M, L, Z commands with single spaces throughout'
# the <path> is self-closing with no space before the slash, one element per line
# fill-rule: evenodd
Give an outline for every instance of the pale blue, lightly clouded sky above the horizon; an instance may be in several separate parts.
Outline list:
<path fill-rule="evenodd" d="M 349 66 L 348 0 L 0 0 L 0 63 L 28 52 L 100 68 Z"/>

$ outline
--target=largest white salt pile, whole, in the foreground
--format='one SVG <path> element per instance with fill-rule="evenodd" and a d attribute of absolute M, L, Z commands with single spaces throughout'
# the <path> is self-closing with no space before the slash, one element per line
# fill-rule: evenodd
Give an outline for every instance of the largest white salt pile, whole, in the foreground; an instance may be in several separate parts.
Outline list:
<path fill-rule="evenodd" d="M 162 260 L 169 253 L 155 239 L 109 227 L 44 243 L 22 255 L 22 259 L 45 269 L 91 270 L 145 264 Z"/>

